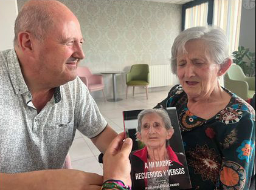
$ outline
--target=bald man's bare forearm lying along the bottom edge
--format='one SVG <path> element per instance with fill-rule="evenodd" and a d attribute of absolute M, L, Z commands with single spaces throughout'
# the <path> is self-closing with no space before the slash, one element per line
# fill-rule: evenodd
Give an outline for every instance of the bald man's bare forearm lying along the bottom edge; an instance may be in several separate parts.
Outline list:
<path fill-rule="evenodd" d="M 100 190 L 103 177 L 75 169 L 0 174 L 1 190 Z"/>

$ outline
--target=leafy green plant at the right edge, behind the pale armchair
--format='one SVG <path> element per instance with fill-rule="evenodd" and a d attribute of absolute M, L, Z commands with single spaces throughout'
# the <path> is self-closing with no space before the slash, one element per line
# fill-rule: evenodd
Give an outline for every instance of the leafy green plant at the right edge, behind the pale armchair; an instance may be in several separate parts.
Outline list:
<path fill-rule="evenodd" d="M 246 76 L 255 76 L 255 52 L 252 53 L 249 48 L 240 46 L 232 55 L 234 64 L 239 65 Z"/>

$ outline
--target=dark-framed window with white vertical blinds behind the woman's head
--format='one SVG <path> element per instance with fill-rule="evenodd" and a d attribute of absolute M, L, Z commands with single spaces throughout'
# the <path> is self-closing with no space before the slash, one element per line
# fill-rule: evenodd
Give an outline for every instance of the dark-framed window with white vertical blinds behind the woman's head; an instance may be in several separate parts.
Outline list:
<path fill-rule="evenodd" d="M 242 0 L 195 0 L 182 5 L 182 30 L 216 25 L 229 39 L 229 53 L 237 50 Z"/>

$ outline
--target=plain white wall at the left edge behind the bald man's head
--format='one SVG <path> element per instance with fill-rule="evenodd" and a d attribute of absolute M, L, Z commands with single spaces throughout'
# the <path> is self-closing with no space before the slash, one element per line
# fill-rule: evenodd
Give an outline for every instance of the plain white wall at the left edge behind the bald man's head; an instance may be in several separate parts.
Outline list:
<path fill-rule="evenodd" d="M 13 48 L 14 23 L 17 15 L 16 0 L 0 0 L 0 50 Z"/>

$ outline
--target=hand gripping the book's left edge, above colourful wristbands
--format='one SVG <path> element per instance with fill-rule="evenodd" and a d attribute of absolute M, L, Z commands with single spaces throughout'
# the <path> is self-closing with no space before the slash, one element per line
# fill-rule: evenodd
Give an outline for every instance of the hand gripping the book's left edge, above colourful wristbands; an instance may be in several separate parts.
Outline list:
<path fill-rule="evenodd" d="M 103 181 L 121 180 L 125 185 L 131 185 L 131 164 L 129 155 L 133 146 L 130 138 L 125 139 L 125 134 L 120 133 L 112 140 L 103 156 Z"/>

